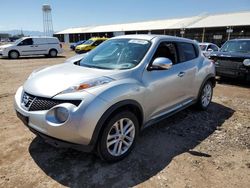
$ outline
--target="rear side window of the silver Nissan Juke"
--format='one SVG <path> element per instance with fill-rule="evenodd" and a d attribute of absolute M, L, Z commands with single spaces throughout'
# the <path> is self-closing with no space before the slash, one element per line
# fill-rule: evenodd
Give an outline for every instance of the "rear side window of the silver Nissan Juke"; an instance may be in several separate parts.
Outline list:
<path fill-rule="evenodd" d="M 190 61 L 198 56 L 195 46 L 191 43 L 180 42 L 177 44 L 180 62 Z"/>

